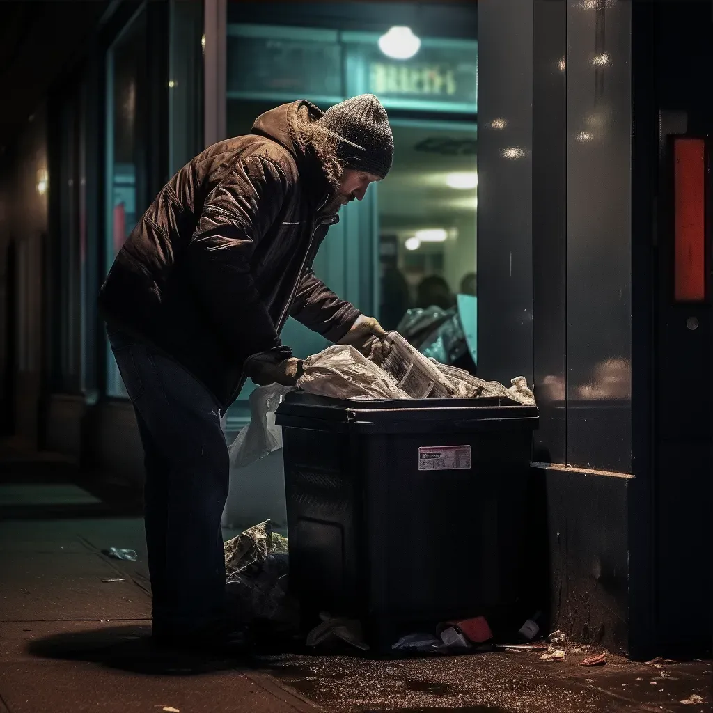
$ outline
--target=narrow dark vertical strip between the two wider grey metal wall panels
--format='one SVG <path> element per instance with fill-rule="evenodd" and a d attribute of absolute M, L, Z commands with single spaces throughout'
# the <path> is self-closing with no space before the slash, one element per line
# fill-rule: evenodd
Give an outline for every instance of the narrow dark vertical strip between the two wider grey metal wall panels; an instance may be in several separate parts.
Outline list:
<path fill-rule="evenodd" d="M 533 2 L 534 461 L 567 462 L 567 5 Z"/>

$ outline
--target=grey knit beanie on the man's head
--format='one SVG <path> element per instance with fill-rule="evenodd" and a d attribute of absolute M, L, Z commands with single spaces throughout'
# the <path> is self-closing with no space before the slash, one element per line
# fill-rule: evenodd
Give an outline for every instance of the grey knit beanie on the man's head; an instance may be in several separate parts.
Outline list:
<path fill-rule="evenodd" d="M 386 109 L 373 94 L 361 94 L 327 109 L 317 123 L 337 138 L 347 168 L 384 178 L 394 160 L 394 136 Z"/>

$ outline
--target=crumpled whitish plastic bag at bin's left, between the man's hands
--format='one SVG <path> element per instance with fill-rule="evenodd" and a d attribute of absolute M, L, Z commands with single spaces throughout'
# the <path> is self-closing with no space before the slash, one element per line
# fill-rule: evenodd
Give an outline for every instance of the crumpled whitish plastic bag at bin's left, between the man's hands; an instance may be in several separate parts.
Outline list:
<path fill-rule="evenodd" d="M 349 344 L 308 356 L 297 386 L 310 394 L 337 399 L 409 399 L 384 369 Z"/>

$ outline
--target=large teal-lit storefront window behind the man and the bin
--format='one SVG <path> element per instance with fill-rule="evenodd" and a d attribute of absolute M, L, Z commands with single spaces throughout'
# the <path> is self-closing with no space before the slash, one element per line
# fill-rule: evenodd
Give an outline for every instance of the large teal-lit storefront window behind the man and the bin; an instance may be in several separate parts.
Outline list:
<path fill-rule="evenodd" d="M 301 98 L 326 110 L 357 94 L 378 96 L 394 130 L 394 167 L 365 200 L 342 209 L 315 272 L 389 329 L 416 307 L 454 314 L 460 299 L 474 334 L 477 43 L 474 32 L 463 36 L 461 16 L 448 31 L 453 10 L 443 5 L 434 14 L 438 35 L 421 32 L 414 56 L 388 56 L 381 36 L 408 25 L 399 14 L 414 16 L 415 8 L 300 4 L 298 13 L 285 4 L 229 4 L 227 133 L 248 133 L 263 111 Z M 473 25 L 474 13 L 466 12 Z M 298 356 L 326 346 L 291 320 L 282 337 Z"/>

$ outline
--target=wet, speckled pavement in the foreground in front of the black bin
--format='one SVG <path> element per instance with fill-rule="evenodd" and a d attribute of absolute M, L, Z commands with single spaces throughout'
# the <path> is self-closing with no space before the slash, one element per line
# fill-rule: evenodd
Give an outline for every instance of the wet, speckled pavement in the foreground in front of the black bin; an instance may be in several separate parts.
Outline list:
<path fill-rule="evenodd" d="M 268 670 L 334 712 L 452 709 L 492 713 L 709 711 L 711 666 L 635 664 L 609 657 L 540 661 L 542 652 L 488 652 L 453 657 L 369 661 L 356 657 L 276 657 Z M 702 704 L 683 703 L 700 696 Z M 695 698 L 693 700 L 696 700 Z"/>

